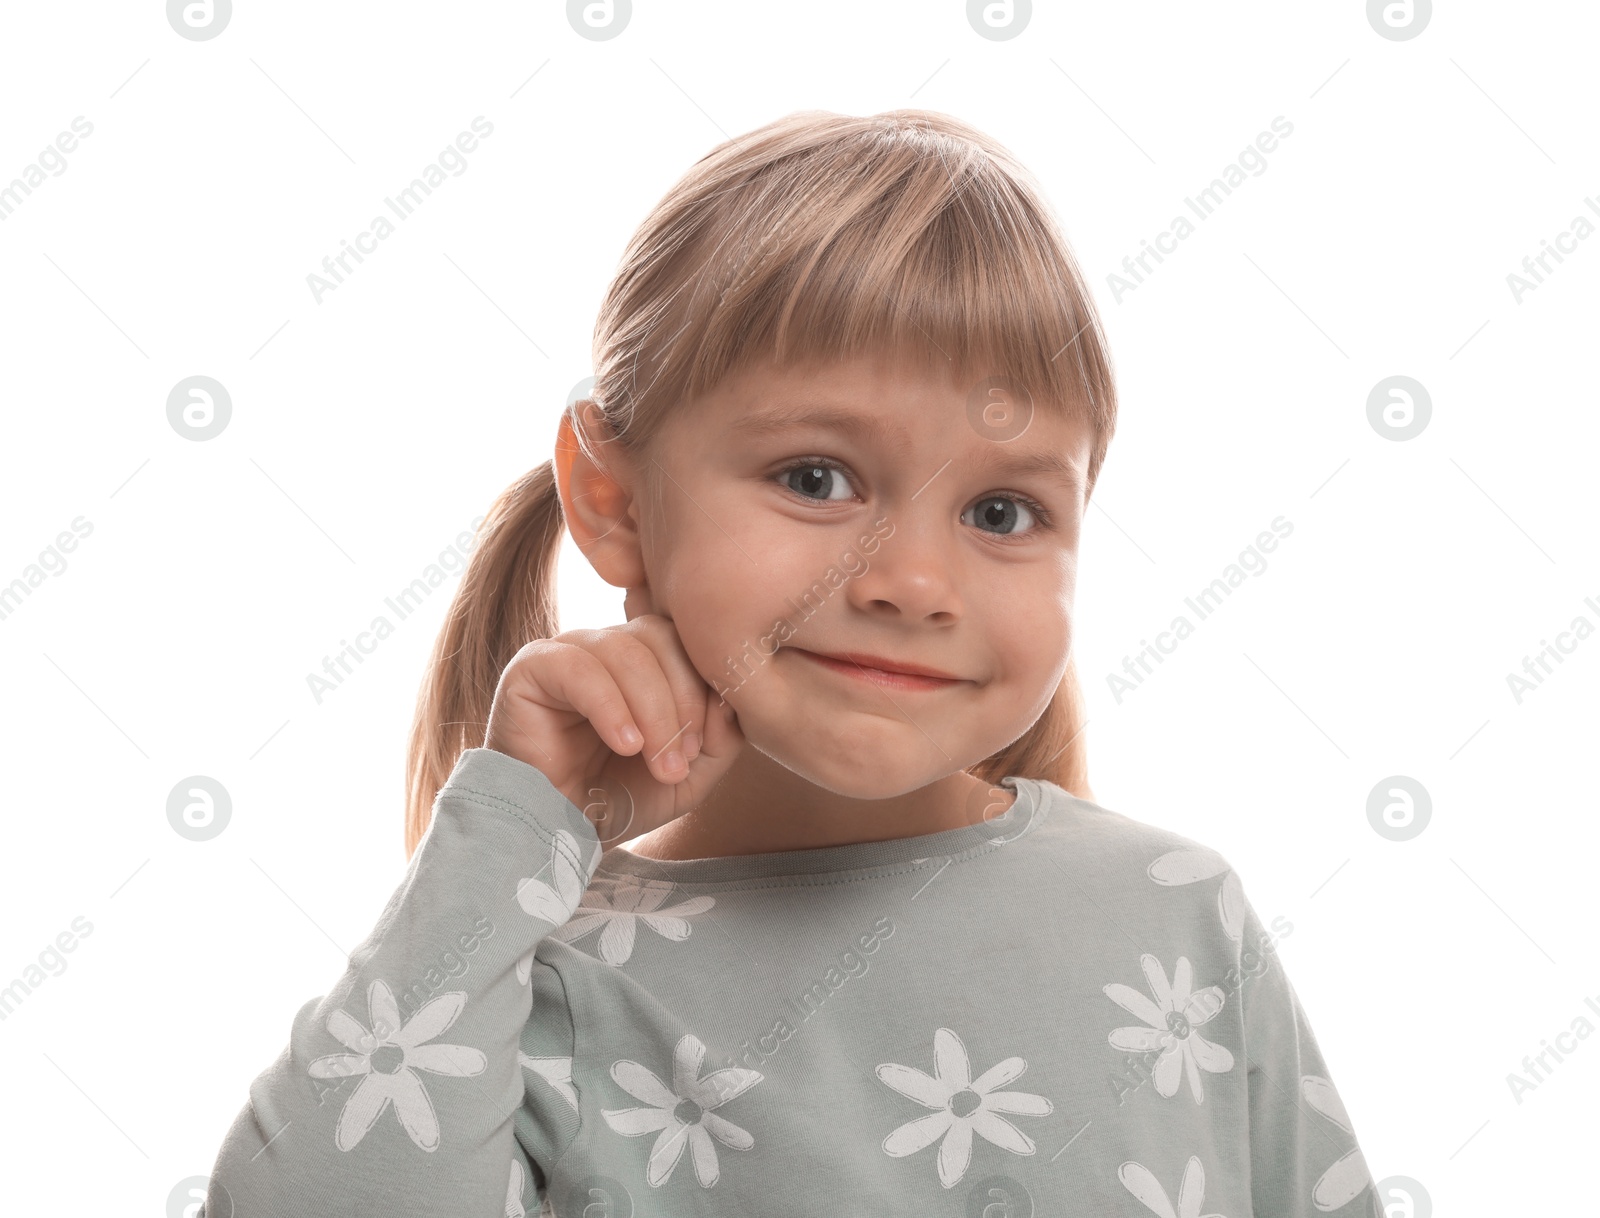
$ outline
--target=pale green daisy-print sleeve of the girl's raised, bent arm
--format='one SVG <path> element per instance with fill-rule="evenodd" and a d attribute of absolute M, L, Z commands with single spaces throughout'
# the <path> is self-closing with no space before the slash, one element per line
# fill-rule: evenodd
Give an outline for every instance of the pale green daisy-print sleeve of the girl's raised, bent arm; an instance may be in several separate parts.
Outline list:
<path fill-rule="evenodd" d="M 373 933 L 250 1085 L 200 1218 L 522 1213 L 549 1164 L 514 1122 L 555 1096 L 525 1088 L 523 1034 L 571 1037 L 533 952 L 598 861 L 592 823 L 538 768 L 467 749 Z M 570 1125 L 542 1116 L 523 1112 L 534 1146 Z"/>

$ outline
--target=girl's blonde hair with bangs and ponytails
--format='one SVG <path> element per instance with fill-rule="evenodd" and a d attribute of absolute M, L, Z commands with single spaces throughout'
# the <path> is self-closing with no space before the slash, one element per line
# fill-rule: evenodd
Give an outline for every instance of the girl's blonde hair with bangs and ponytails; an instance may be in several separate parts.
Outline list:
<path fill-rule="evenodd" d="M 802 110 L 717 146 L 634 234 L 594 333 L 589 400 L 630 451 L 678 403 L 746 365 L 891 354 L 966 378 L 1002 370 L 1093 434 L 1086 491 L 1115 427 L 1110 354 L 1034 178 L 989 136 L 933 110 Z M 574 427 L 590 453 L 590 439 Z M 406 759 L 406 856 L 506 664 L 558 634 L 563 530 L 550 461 L 494 501 L 434 645 Z M 1074 664 L 1045 714 L 970 773 L 1091 797 Z"/>

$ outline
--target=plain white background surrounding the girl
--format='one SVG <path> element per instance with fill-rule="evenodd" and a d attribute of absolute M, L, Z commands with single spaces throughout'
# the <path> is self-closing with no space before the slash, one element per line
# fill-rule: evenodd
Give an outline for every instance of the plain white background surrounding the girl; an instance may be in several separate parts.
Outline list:
<path fill-rule="evenodd" d="M 989 40 L 949 2 L 638 3 L 595 42 L 558 3 L 278 0 L 192 42 L 160 3 L 6 6 L 0 182 L 93 123 L 0 222 L 0 584 L 93 527 L 0 619 L 0 984 L 93 924 L 0 1023 L 16 1212 L 93 1178 L 166 1213 L 371 928 L 454 578 L 320 704 L 307 674 L 549 458 L 650 206 L 789 110 L 906 106 L 1030 166 L 1109 327 L 1075 626 L 1096 797 L 1293 922 L 1376 1178 L 1438 1213 L 1594 1205 L 1600 1036 L 1522 1103 L 1507 1074 L 1600 1028 L 1600 639 L 1520 703 L 1507 674 L 1600 626 L 1600 238 L 1520 301 L 1507 274 L 1600 222 L 1600 19 L 1451 3 L 1390 40 L 1362 3 L 1040 10 Z M 317 302 L 307 274 L 475 115 L 466 173 Z M 1267 170 L 1118 301 L 1107 275 L 1277 115 Z M 203 443 L 166 419 L 194 375 L 234 408 Z M 1432 399 L 1405 442 L 1366 418 L 1392 375 Z M 1278 515 L 1267 570 L 1114 696 Z M 622 616 L 570 543 L 560 603 Z M 166 823 L 190 775 L 232 797 L 210 842 Z M 1392 775 L 1432 797 L 1406 842 L 1366 816 Z"/>

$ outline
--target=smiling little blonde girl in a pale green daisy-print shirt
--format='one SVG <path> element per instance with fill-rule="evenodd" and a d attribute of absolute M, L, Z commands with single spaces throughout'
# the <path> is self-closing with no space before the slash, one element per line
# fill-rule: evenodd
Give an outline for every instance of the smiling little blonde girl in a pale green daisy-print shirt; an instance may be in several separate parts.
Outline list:
<path fill-rule="evenodd" d="M 405 879 L 203 1215 L 1378 1213 L 1235 872 L 1093 802 L 1115 394 L 1027 171 L 925 110 L 762 126 L 594 357 L 435 647 Z M 557 631 L 563 527 L 626 624 Z"/>

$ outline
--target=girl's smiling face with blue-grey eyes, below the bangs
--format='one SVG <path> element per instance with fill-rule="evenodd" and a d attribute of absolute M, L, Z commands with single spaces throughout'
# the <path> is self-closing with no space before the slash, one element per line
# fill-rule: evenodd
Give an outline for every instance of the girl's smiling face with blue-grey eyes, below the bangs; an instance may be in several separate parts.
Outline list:
<path fill-rule="evenodd" d="M 877 359 L 725 381 L 643 463 L 630 615 L 670 618 L 747 743 L 827 791 L 981 762 L 1061 683 L 1091 443 L 1043 405 L 1013 435 L 1005 411 Z"/>

